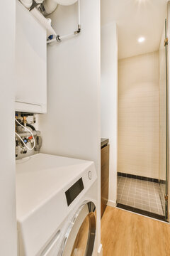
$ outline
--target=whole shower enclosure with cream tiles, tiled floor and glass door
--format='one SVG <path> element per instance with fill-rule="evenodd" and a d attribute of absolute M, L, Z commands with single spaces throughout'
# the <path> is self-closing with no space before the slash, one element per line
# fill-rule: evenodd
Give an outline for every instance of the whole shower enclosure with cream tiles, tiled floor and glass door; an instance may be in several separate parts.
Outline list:
<path fill-rule="evenodd" d="M 118 61 L 117 207 L 168 220 L 168 42 Z"/>

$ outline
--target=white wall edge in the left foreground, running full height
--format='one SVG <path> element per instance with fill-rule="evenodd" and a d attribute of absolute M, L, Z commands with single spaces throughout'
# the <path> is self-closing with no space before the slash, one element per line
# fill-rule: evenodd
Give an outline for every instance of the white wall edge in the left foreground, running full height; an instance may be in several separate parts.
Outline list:
<path fill-rule="evenodd" d="M 14 54 L 15 54 L 15 4 L 13 0 L 2 1 L 1 62 L 0 62 L 0 114 L 1 161 L 0 161 L 0 255 L 16 256 L 16 191 L 14 148 Z M 7 11 L 5 11 L 7 10 Z"/>

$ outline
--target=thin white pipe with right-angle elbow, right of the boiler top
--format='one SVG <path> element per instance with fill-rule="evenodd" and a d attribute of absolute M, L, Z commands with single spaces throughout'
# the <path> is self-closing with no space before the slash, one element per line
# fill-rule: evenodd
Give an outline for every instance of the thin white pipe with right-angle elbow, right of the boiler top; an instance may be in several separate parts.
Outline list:
<path fill-rule="evenodd" d="M 79 34 L 81 32 L 81 25 L 80 25 L 80 0 L 77 1 L 77 9 L 78 9 L 78 29 L 77 29 L 77 31 L 74 31 L 73 33 L 70 33 L 69 35 L 66 35 L 66 36 L 57 35 L 56 38 L 48 40 L 47 44 L 48 43 L 53 43 L 55 41 L 60 43 L 60 42 L 62 42 L 62 40 L 68 39 L 68 38 L 70 38 L 72 36 L 76 36 L 77 34 Z"/>

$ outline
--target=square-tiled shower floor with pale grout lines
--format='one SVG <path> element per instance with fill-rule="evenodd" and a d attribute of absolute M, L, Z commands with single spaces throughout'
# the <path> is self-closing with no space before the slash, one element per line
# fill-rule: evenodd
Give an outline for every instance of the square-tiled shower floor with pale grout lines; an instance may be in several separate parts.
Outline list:
<path fill-rule="evenodd" d="M 117 203 L 164 215 L 158 183 L 118 176 Z"/>

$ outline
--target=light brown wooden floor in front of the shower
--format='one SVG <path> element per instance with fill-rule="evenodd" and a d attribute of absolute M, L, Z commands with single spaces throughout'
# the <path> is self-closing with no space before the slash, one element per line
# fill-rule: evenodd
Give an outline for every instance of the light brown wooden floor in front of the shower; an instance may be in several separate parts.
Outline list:
<path fill-rule="evenodd" d="M 107 206 L 101 243 L 103 256 L 170 256 L 170 225 Z"/>

